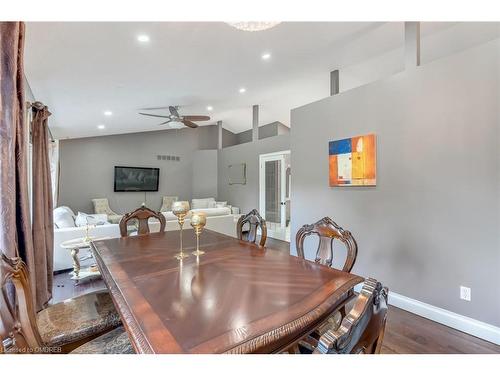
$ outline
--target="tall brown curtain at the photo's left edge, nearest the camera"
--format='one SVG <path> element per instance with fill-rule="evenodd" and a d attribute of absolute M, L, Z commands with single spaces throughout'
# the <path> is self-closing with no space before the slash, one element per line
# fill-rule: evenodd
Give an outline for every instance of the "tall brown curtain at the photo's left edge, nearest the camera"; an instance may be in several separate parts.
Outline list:
<path fill-rule="evenodd" d="M 35 267 L 24 121 L 24 24 L 0 22 L 0 251 Z M 35 290 L 35 273 L 30 272 Z"/>

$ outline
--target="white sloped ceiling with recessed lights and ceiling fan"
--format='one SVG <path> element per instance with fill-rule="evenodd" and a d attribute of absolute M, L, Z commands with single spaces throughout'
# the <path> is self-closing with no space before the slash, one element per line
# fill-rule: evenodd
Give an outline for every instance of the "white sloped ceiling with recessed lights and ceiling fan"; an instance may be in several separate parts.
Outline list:
<path fill-rule="evenodd" d="M 286 22 L 254 33 L 222 22 L 28 23 L 25 71 L 53 114 L 56 138 L 158 130 L 161 121 L 137 112 L 163 105 L 209 114 L 213 121 L 200 125 L 222 120 L 237 133 L 251 128 L 253 104 L 261 125 L 289 125 L 291 108 L 329 94 L 330 70 L 400 48 L 402 30 L 401 23 Z M 142 33 L 149 43 L 137 41 Z"/>

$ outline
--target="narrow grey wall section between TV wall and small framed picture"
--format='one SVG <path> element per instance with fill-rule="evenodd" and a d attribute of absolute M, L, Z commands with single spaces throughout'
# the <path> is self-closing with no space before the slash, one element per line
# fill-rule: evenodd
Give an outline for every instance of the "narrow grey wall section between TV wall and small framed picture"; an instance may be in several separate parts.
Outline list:
<path fill-rule="evenodd" d="M 193 198 L 217 198 L 217 150 L 193 155 Z"/>

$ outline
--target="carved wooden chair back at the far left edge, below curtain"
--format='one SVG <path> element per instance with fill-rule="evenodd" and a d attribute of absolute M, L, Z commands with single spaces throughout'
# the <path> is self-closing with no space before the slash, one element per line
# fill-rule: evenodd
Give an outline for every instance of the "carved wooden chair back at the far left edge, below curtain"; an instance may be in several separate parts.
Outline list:
<path fill-rule="evenodd" d="M 26 264 L 0 258 L 0 353 L 29 353 L 43 347 Z"/>

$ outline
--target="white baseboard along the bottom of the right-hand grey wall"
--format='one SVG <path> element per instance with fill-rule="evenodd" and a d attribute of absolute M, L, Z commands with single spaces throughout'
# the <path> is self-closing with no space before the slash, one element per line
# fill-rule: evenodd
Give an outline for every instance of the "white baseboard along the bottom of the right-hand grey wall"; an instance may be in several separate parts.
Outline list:
<path fill-rule="evenodd" d="M 361 290 L 361 285 L 362 284 L 356 286 L 355 290 L 357 292 Z M 468 333 L 469 335 L 500 345 L 500 327 L 459 315 L 391 291 L 389 291 L 389 304 L 437 323 L 444 324 L 445 326 Z"/>

